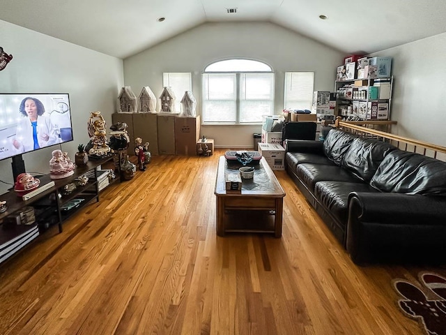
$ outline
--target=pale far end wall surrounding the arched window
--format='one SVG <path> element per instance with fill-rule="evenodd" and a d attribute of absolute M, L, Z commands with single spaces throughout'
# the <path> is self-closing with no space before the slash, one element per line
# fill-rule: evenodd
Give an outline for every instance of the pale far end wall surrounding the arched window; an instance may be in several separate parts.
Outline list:
<path fill-rule="evenodd" d="M 279 114 L 283 110 L 285 72 L 314 71 L 314 89 L 332 91 L 336 68 L 344 56 L 343 52 L 276 24 L 206 23 L 125 59 L 124 80 L 137 96 L 148 86 L 159 98 L 163 72 L 191 72 L 197 114 L 201 114 L 204 68 L 222 59 L 256 59 L 272 66 L 275 72 L 275 114 Z M 260 132 L 261 126 L 201 126 L 201 135 L 214 138 L 215 147 L 252 147 L 252 134 Z"/>

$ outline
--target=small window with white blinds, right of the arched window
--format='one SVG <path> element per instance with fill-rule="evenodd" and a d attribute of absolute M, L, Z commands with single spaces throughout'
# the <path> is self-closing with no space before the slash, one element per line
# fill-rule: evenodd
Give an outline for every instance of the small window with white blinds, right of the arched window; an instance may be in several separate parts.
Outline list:
<path fill-rule="evenodd" d="M 311 110 L 314 91 L 314 72 L 286 72 L 284 108 Z"/>

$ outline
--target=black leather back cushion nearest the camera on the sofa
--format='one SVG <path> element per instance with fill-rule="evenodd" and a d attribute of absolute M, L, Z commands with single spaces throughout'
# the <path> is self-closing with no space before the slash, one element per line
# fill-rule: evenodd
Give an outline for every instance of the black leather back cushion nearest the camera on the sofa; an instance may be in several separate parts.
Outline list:
<path fill-rule="evenodd" d="M 383 192 L 446 196 L 446 163 L 396 149 L 385 156 L 370 184 Z"/>

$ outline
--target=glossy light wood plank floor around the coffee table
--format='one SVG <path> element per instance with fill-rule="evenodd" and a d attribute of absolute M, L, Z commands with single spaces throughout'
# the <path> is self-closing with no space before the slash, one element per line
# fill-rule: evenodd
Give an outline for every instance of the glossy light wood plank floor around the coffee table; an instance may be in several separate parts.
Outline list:
<path fill-rule="evenodd" d="M 0 265 L 0 334 L 423 334 L 393 278 L 358 267 L 284 171 L 281 239 L 215 234 L 218 156 L 153 156 Z"/>

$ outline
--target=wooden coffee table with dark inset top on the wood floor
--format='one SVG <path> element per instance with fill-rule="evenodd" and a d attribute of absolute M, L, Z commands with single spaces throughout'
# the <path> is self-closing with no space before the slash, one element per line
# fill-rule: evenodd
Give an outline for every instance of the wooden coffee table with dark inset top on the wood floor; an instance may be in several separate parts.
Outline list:
<path fill-rule="evenodd" d="M 226 192 L 224 174 L 238 173 L 240 166 L 236 162 L 228 164 L 224 156 L 219 158 L 214 191 L 217 196 L 217 235 L 224 236 L 226 232 L 267 232 L 281 237 L 284 189 L 262 157 L 254 170 L 254 178 L 242 179 L 241 193 Z M 268 225 L 272 216 L 274 221 Z"/>

